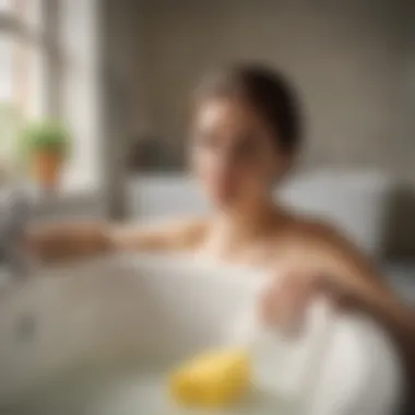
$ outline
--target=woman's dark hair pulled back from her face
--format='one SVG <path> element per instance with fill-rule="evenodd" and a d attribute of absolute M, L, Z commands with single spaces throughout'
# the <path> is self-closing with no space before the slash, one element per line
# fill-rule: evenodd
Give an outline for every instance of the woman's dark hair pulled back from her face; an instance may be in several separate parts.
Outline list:
<path fill-rule="evenodd" d="M 278 149 L 292 153 L 301 142 L 297 95 L 278 71 L 259 64 L 225 68 L 202 82 L 197 99 L 210 96 L 244 99 L 272 129 Z"/>

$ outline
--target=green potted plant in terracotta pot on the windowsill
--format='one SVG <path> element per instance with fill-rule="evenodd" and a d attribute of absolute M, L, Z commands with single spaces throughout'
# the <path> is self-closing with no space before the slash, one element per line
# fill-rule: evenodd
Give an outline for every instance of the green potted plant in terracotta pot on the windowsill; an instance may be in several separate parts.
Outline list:
<path fill-rule="evenodd" d="M 32 122 L 23 130 L 32 178 L 45 190 L 56 190 L 68 152 L 69 132 L 55 120 Z"/>

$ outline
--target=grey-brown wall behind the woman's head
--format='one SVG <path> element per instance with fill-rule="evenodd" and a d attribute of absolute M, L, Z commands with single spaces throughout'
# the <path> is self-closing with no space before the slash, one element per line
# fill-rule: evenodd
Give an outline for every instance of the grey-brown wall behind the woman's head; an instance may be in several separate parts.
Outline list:
<path fill-rule="evenodd" d="M 234 59 L 259 59 L 285 70 L 304 96 L 308 165 L 375 165 L 414 175 L 415 3 L 140 4 L 138 14 L 144 19 L 137 37 L 137 81 L 144 85 L 140 99 L 145 114 L 138 128 L 164 137 L 166 152 L 181 153 L 188 95 L 201 73 Z"/>

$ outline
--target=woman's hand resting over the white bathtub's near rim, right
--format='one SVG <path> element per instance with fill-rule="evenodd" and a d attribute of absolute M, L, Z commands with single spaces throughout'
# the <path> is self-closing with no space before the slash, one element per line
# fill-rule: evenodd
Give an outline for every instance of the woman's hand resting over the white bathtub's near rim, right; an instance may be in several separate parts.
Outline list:
<path fill-rule="evenodd" d="M 265 325 L 277 327 L 287 335 L 303 331 L 309 306 L 319 296 L 328 298 L 335 308 L 344 309 L 353 303 L 348 295 L 322 275 L 287 273 L 263 293 L 259 304 Z"/>

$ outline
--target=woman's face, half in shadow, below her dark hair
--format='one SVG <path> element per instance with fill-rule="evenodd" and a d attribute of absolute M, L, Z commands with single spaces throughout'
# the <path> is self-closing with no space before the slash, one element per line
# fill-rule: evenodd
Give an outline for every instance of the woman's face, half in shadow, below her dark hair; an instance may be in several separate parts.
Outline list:
<path fill-rule="evenodd" d="M 269 198 L 287 168 L 266 123 L 247 104 L 210 98 L 199 106 L 192 129 L 193 169 L 218 208 L 238 209 Z"/>

